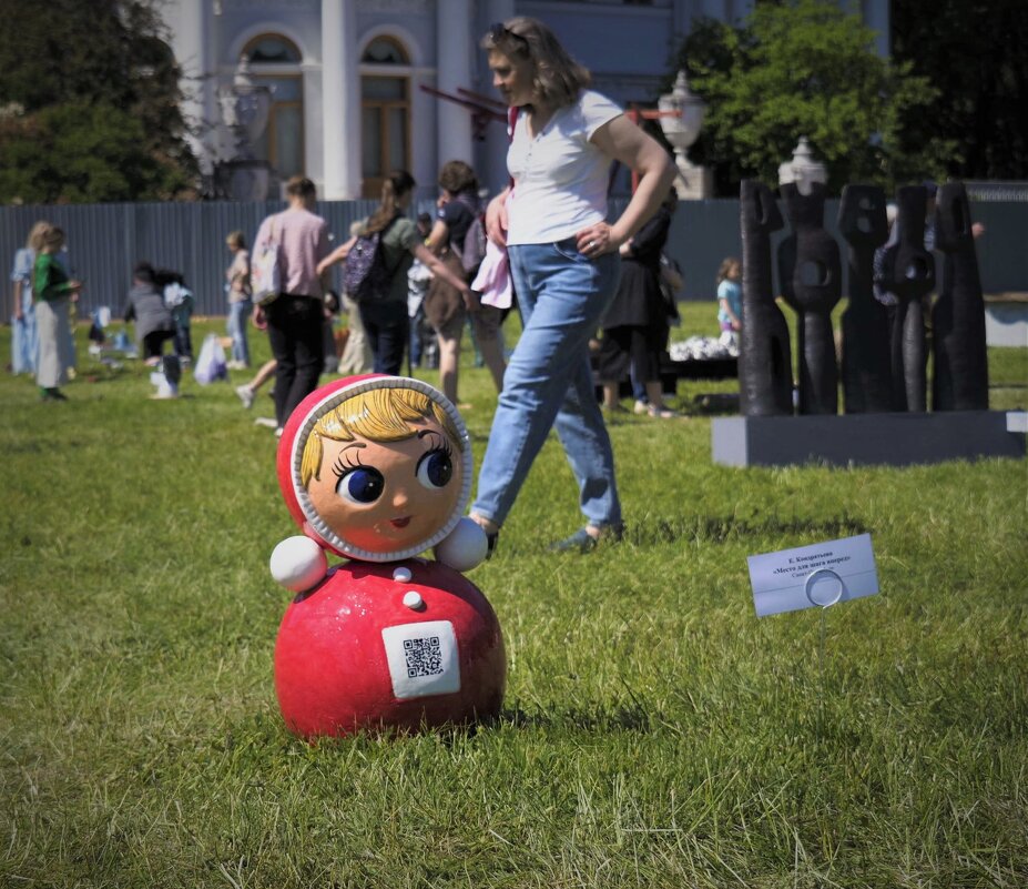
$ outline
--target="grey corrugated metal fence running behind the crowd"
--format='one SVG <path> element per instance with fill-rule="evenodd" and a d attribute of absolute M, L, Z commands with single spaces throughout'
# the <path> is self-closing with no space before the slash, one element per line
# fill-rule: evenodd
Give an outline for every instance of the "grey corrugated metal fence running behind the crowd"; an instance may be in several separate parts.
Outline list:
<path fill-rule="evenodd" d="M 623 201 L 612 205 L 617 212 Z M 225 313 L 224 270 L 231 256 L 225 247 L 228 232 L 240 229 L 252 241 L 261 220 L 281 210 L 267 203 L 138 203 L 0 208 L 0 261 L 10 263 L 39 219 L 60 225 L 68 234 L 67 262 L 85 281 L 81 314 L 108 305 L 120 311 L 132 266 L 149 260 L 155 266 L 182 272 L 196 295 L 196 312 Z M 317 212 L 328 220 L 336 243 L 350 224 L 370 213 L 374 201 L 328 201 Z M 431 202 L 416 211 L 431 212 Z M 828 201 L 827 230 L 838 238 L 835 218 L 838 202 Z M 987 293 L 1028 292 L 1028 203 L 975 202 L 971 213 L 986 226 L 978 241 L 983 285 Z M 778 233 L 777 238 L 784 236 Z M 775 242 L 773 242 L 775 243 Z M 843 245 L 844 246 L 844 245 Z M 668 244 L 685 276 L 685 300 L 713 300 L 714 279 L 721 260 L 741 255 L 739 201 L 683 201 L 679 204 Z M 10 267 L 10 266 L 8 266 Z M 4 270 L 3 279 L 9 274 Z M 4 313 L 10 309 L 10 286 L 2 289 Z"/>

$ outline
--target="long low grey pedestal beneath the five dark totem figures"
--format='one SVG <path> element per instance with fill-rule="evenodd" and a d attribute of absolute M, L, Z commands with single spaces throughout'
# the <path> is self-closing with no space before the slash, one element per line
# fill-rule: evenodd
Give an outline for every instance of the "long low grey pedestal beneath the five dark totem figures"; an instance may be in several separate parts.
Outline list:
<path fill-rule="evenodd" d="M 1024 457 L 1022 412 L 716 417 L 711 452 L 722 466 L 831 466 Z"/>

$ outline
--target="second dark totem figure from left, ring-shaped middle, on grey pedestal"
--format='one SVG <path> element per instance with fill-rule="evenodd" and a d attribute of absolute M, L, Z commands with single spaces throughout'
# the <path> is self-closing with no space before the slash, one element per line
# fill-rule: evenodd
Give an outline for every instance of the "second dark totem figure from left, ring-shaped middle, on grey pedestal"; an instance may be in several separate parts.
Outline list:
<path fill-rule="evenodd" d="M 800 413 L 838 413 L 838 364 L 832 310 L 842 299 L 838 244 L 824 230 L 825 186 L 810 194 L 795 184 L 781 188 L 792 233 L 778 244 L 782 297 L 796 310 L 800 353 Z M 745 312 L 745 307 L 743 310 Z M 745 329 L 745 314 L 743 314 Z"/>

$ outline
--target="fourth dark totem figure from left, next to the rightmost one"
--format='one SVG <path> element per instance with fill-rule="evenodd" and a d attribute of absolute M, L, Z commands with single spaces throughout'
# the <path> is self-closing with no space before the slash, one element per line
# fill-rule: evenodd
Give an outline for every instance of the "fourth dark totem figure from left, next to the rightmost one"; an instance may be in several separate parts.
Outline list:
<path fill-rule="evenodd" d="M 898 238 L 885 251 L 885 287 L 899 304 L 890 333 L 893 411 L 927 410 L 924 297 L 935 289 L 935 257 L 925 250 L 924 185 L 896 192 Z"/>

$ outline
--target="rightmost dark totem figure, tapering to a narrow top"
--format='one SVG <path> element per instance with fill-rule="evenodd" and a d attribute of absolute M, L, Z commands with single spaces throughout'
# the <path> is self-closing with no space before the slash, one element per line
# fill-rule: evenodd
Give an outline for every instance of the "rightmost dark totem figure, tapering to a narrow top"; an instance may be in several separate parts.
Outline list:
<path fill-rule="evenodd" d="M 932 309 L 934 411 L 988 411 L 985 301 L 961 182 L 938 190 L 935 246 L 944 255 L 942 287 Z"/>

